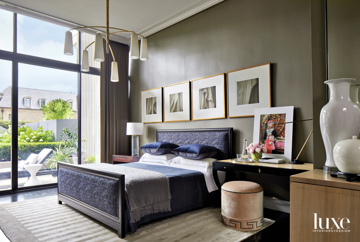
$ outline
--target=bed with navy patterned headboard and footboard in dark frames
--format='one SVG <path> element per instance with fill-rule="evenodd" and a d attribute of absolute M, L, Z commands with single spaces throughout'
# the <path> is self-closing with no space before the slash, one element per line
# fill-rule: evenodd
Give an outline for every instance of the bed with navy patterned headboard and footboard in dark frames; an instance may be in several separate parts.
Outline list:
<path fill-rule="evenodd" d="M 214 158 L 216 160 L 224 160 L 232 157 L 232 133 L 233 128 L 157 130 L 157 141 L 171 142 L 179 146 L 186 144 L 211 145 L 217 148 L 217 155 Z M 126 170 L 127 168 L 124 167 L 131 169 L 131 166 L 134 166 L 136 169 L 143 169 L 142 166 L 145 164 L 134 162 L 121 165 L 104 165 L 112 166 L 114 169 L 121 168 Z M 124 238 L 127 231 L 136 230 L 140 224 L 179 214 L 197 207 L 208 206 L 213 200 L 215 193 L 218 194 L 219 192 L 219 190 L 208 192 L 207 190 L 202 191 L 194 188 L 194 186 L 206 187 L 206 178 L 204 178 L 204 175 L 200 172 L 186 169 L 177 170 L 175 168 L 169 170 L 166 166 L 151 167 L 154 166 L 150 165 L 150 168 L 144 167 L 144 169 L 164 171 L 163 173 L 166 174 L 171 181 L 171 211 L 146 215 L 141 217 L 136 223 L 132 223 L 129 219 L 128 204 L 125 199 L 125 197 L 129 197 L 129 193 L 130 195 L 132 193 L 128 187 L 126 190 L 127 193 L 125 193 L 125 175 L 119 174 L 120 172 L 89 168 L 86 167 L 86 165 L 78 166 L 60 162 L 58 163 L 58 203 L 61 204 L 64 202 L 94 219 L 107 224 L 109 227 L 118 231 L 120 238 Z M 179 174 L 179 172 L 181 174 L 180 176 L 168 175 L 174 173 Z M 219 186 L 217 173 L 214 173 L 213 177 L 216 185 Z M 185 189 L 186 187 L 188 187 L 188 190 Z M 189 188 L 191 189 L 189 190 Z M 183 190 L 184 194 L 191 193 L 191 190 L 194 191 L 192 191 L 193 194 L 186 195 L 189 196 L 188 198 L 184 198 L 184 194 L 173 193 L 175 190 Z M 196 205 L 184 205 L 183 203 L 185 202 L 175 202 L 176 200 L 180 200 L 181 197 L 184 198 L 184 201 L 194 200 L 194 197 L 190 196 L 196 198 Z"/>

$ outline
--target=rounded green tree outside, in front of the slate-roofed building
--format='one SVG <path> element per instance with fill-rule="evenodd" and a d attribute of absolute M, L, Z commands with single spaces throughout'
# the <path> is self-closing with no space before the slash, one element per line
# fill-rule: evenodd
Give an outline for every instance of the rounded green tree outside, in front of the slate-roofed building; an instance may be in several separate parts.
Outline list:
<path fill-rule="evenodd" d="M 41 107 L 44 113 L 44 120 L 70 119 L 74 115 L 72 107 L 61 98 L 51 100 L 47 104 Z"/>

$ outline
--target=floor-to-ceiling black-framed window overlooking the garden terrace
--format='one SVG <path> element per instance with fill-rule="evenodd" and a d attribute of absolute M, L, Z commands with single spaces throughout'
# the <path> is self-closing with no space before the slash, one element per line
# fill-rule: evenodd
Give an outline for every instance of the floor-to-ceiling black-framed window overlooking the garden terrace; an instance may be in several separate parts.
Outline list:
<path fill-rule="evenodd" d="M 0 191 L 56 185 L 58 161 L 98 157 L 99 115 L 89 113 L 99 112 L 100 65 L 85 74 L 78 64 L 82 38 L 94 36 L 73 31 L 68 56 L 68 27 L 3 9 L 0 27 Z"/>

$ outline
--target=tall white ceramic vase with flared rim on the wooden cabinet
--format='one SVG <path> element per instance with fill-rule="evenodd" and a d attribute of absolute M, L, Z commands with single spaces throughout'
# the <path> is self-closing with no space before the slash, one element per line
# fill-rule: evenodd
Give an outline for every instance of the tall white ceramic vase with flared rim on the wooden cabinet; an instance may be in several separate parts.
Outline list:
<path fill-rule="evenodd" d="M 336 167 L 334 145 L 351 139 L 360 131 L 360 109 L 350 100 L 349 88 L 355 79 L 342 78 L 325 81 L 329 85 L 330 100 L 320 112 L 320 130 L 326 152 L 325 166 Z"/>

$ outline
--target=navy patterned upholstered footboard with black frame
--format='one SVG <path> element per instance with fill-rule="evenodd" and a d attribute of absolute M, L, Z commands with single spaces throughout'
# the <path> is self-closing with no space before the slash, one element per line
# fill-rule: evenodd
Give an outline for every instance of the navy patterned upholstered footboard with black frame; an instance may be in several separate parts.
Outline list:
<path fill-rule="evenodd" d="M 125 175 L 58 162 L 58 203 L 62 202 L 125 237 Z"/>

